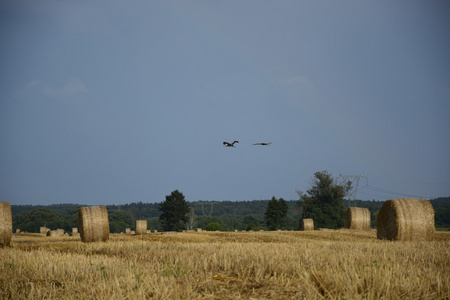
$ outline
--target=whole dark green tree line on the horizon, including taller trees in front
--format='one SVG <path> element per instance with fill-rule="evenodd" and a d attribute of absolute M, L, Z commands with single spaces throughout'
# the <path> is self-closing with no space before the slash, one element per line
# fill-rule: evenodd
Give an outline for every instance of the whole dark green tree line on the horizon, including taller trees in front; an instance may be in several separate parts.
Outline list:
<path fill-rule="evenodd" d="M 327 171 L 316 172 L 310 189 L 299 192 L 299 200 L 277 199 L 254 201 L 188 202 L 175 190 L 161 203 L 107 205 L 110 231 L 135 229 L 136 220 L 147 220 L 148 228 L 158 231 L 205 230 L 298 230 L 302 218 L 313 218 L 316 228 L 341 228 L 349 206 L 365 207 L 371 212 L 375 228 L 381 201 L 349 201 L 345 196 L 350 183 L 337 184 Z M 430 201 L 435 210 L 437 228 L 450 227 L 450 197 Z M 85 205 L 50 206 L 12 205 L 13 230 L 39 232 L 41 226 L 71 231 L 78 227 L 78 208 Z"/>

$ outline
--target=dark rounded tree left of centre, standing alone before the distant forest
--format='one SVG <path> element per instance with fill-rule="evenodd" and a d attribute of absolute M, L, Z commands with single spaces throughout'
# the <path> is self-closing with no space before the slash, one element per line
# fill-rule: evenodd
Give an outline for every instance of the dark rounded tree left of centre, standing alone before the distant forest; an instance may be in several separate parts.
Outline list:
<path fill-rule="evenodd" d="M 162 212 L 159 219 L 164 230 L 181 231 L 186 229 L 190 207 L 184 199 L 184 195 L 178 190 L 166 196 L 166 200 L 160 204 L 159 210 Z"/>

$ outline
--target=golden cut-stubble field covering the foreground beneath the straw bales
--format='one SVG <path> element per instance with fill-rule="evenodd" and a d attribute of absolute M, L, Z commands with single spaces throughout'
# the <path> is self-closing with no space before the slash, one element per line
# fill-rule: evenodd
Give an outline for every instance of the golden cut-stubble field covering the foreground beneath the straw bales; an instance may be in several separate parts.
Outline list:
<path fill-rule="evenodd" d="M 376 231 L 15 235 L 0 299 L 448 299 L 450 233 L 389 242 Z"/>

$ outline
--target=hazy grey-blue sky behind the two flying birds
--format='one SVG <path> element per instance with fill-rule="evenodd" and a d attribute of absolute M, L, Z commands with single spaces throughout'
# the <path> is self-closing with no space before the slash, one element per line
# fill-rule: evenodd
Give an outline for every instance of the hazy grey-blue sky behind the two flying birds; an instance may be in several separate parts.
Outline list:
<path fill-rule="evenodd" d="M 449 15 L 448 1 L 1 1 L 0 201 L 297 200 L 325 170 L 359 178 L 356 199 L 448 197 Z"/>

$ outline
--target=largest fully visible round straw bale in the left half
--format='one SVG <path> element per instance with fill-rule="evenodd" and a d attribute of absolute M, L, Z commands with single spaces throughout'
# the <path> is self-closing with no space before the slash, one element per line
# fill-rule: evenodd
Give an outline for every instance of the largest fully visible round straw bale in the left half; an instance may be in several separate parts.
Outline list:
<path fill-rule="evenodd" d="M 88 206 L 78 209 L 78 227 L 81 241 L 98 242 L 109 239 L 109 221 L 106 206 Z"/>

